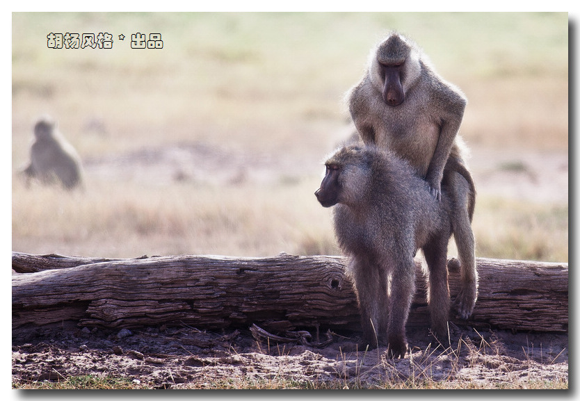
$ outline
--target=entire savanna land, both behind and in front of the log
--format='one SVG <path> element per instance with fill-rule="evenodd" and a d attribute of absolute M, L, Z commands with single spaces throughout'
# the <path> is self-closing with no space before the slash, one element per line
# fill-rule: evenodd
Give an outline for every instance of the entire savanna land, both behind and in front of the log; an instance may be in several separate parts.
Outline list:
<path fill-rule="evenodd" d="M 314 190 L 325 155 L 353 133 L 344 95 L 391 28 L 468 98 L 477 256 L 567 263 L 566 13 L 14 13 L 13 251 L 339 254 Z M 113 49 L 47 47 L 48 33 L 87 31 L 112 33 Z M 163 49 L 131 49 L 136 32 L 161 33 Z M 82 158 L 83 190 L 19 174 L 45 113 Z M 194 327 L 130 333 L 13 344 L 13 386 L 567 388 L 567 336 L 555 334 L 467 329 L 437 350 L 418 336 L 394 362 Z M 176 345 L 186 336 L 206 347 Z M 125 352 L 107 351 L 115 341 Z M 167 347 L 153 357 L 142 343 Z"/>

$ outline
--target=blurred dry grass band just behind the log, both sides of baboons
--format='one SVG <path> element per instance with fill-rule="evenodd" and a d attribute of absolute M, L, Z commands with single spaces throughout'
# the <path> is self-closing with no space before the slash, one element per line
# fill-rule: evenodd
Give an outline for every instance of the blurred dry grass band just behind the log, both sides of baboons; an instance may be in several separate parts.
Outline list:
<path fill-rule="evenodd" d="M 331 212 L 312 195 L 317 184 L 316 178 L 262 186 L 182 183 L 152 191 L 95 183 L 71 194 L 26 190 L 15 181 L 13 249 L 103 257 L 339 254 Z M 567 205 L 479 197 L 473 225 L 479 256 L 568 260 Z M 456 256 L 453 241 L 449 252 Z"/>

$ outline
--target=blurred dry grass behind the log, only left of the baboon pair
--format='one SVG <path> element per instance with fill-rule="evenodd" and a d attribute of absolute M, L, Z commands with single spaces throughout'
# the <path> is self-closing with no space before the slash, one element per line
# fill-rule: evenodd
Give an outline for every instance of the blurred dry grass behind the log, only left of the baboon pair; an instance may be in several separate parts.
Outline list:
<path fill-rule="evenodd" d="M 330 214 L 316 203 L 314 180 L 158 190 L 91 184 L 72 194 L 34 186 L 31 197 L 32 190 L 15 182 L 13 249 L 108 257 L 336 253 Z"/>

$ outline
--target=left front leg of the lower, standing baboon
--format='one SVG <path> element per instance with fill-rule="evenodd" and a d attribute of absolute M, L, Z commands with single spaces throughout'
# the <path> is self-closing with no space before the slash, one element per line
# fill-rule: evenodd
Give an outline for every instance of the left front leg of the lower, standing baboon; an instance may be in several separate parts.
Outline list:
<path fill-rule="evenodd" d="M 363 347 L 378 347 L 387 332 L 387 283 L 378 265 L 354 258 L 351 267 L 361 315 Z"/>

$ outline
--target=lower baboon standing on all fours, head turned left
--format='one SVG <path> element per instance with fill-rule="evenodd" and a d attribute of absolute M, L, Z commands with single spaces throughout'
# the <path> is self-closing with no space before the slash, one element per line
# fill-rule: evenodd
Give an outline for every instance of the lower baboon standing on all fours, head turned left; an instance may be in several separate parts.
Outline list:
<path fill-rule="evenodd" d="M 324 207 L 336 205 L 335 234 L 348 257 L 347 274 L 360 306 L 362 345 L 376 347 L 386 341 L 390 356 L 405 356 L 413 257 L 419 248 L 428 267 L 431 328 L 444 336 L 450 304 L 446 264 L 453 231 L 451 197 L 437 201 L 408 162 L 378 147 L 342 147 L 325 165 L 314 195 Z M 446 183 L 442 189 L 447 195 Z"/>

